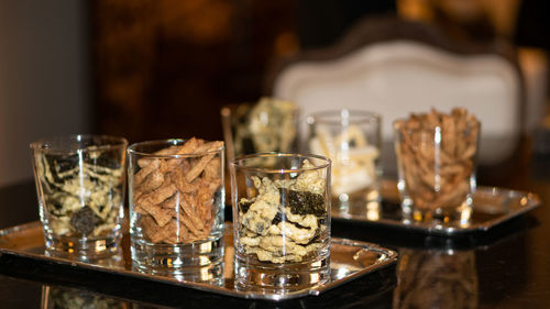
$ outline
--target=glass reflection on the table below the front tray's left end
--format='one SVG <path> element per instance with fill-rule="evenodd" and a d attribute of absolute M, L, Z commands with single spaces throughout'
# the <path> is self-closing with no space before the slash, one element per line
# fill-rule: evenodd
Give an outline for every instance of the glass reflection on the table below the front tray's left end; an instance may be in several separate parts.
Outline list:
<path fill-rule="evenodd" d="M 91 291 L 56 287 L 42 287 L 42 309 L 64 309 L 64 308 L 130 308 L 130 302 L 98 295 Z"/>

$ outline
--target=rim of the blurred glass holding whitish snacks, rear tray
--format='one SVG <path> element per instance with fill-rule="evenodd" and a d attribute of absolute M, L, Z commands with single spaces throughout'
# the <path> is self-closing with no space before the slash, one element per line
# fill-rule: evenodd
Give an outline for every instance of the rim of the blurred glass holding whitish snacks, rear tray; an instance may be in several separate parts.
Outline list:
<path fill-rule="evenodd" d="M 333 119 L 329 119 L 333 118 Z M 369 111 L 369 110 L 358 110 L 358 109 L 339 109 L 339 110 L 324 110 L 308 114 L 307 121 L 309 124 L 322 123 L 322 124 L 341 124 L 342 119 L 348 119 L 349 123 L 369 123 L 373 119 L 378 123 L 382 120 L 380 113 Z"/>

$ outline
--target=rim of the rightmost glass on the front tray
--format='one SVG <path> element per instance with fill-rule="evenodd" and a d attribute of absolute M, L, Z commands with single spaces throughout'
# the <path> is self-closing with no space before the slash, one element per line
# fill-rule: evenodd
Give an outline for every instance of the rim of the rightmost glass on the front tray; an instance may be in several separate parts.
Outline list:
<path fill-rule="evenodd" d="M 321 165 L 314 166 L 314 167 L 272 168 L 272 169 L 261 168 L 261 167 L 249 167 L 249 166 L 243 166 L 243 165 L 238 164 L 239 162 L 242 162 L 245 159 L 251 159 L 251 158 L 257 158 L 257 157 L 302 157 L 302 158 L 321 159 L 324 163 Z M 239 168 L 239 169 L 244 169 L 244 170 L 249 170 L 249 172 L 258 172 L 258 173 L 264 173 L 264 174 L 288 174 L 288 173 L 323 169 L 323 168 L 330 167 L 331 163 L 332 163 L 332 161 L 330 158 L 322 156 L 322 155 L 268 152 L 268 153 L 256 153 L 256 154 L 248 154 L 248 155 L 238 156 L 232 162 L 230 162 L 229 165 L 235 169 Z"/>

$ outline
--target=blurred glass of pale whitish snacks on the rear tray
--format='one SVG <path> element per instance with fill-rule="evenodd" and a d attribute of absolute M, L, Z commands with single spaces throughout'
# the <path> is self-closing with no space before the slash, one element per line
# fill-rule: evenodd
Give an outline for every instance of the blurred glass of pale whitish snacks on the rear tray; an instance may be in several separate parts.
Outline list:
<path fill-rule="evenodd" d="M 360 110 L 323 111 L 307 118 L 312 154 L 332 162 L 332 198 L 339 211 L 380 201 L 381 117 Z"/>

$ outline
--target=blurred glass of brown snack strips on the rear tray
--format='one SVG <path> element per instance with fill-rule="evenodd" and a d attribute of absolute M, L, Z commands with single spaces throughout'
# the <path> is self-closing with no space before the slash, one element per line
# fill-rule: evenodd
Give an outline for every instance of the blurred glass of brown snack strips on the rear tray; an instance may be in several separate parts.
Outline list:
<path fill-rule="evenodd" d="M 480 121 L 465 109 L 394 122 L 398 189 L 406 218 L 468 227 L 475 190 Z"/>

